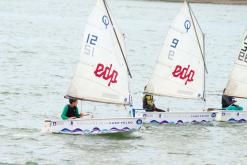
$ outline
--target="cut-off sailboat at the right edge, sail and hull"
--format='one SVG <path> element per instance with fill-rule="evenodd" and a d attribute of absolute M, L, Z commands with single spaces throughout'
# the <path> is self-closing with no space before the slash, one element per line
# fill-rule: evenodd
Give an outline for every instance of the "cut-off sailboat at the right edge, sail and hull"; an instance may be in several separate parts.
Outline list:
<path fill-rule="evenodd" d="M 247 31 L 243 34 L 224 95 L 247 98 Z M 247 111 L 218 110 L 216 121 L 246 122 Z"/>

